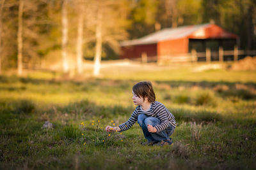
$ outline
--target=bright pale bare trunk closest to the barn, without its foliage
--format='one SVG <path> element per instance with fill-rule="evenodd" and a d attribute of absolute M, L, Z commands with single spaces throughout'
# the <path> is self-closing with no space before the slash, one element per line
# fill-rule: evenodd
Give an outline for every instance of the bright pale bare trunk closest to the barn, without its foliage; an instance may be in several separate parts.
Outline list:
<path fill-rule="evenodd" d="M 102 50 L 102 12 L 101 8 L 97 11 L 97 25 L 96 25 L 96 46 L 95 46 L 95 56 L 94 56 L 94 68 L 93 76 L 99 76 L 100 74 L 100 60 L 101 60 L 101 50 Z"/>

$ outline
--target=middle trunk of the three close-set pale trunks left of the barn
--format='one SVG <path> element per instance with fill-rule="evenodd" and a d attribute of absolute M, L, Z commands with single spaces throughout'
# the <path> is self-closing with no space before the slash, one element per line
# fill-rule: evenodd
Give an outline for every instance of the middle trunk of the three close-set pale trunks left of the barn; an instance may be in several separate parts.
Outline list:
<path fill-rule="evenodd" d="M 78 4 L 78 25 L 77 25 L 77 73 L 83 72 L 83 11 L 82 3 Z"/>

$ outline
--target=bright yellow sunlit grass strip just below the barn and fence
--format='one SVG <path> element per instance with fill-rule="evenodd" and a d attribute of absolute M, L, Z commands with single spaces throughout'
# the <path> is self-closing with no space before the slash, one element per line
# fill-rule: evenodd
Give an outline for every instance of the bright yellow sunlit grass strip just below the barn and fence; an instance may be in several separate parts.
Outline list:
<path fill-rule="evenodd" d="M 256 82 L 256 71 L 227 71 L 211 69 L 202 72 L 193 71 L 193 66 L 179 69 L 163 69 L 161 71 L 137 71 L 125 74 L 104 73 L 105 78 L 118 80 L 151 80 L 151 81 L 209 81 L 209 82 Z M 136 76 L 134 76 L 136 74 Z"/>

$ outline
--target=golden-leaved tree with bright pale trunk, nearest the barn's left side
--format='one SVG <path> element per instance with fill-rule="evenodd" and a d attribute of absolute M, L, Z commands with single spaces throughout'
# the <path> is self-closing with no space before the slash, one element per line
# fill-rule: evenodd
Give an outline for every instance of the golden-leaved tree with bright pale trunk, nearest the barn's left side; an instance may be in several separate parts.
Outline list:
<path fill-rule="evenodd" d="M 125 28 L 127 23 L 125 22 L 124 4 L 126 1 L 93 1 L 92 8 L 93 18 L 91 22 L 95 25 L 95 56 L 94 56 L 94 67 L 93 76 L 99 76 L 100 74 L 100 61 L 102 57 L 102 44 L 107 43 L 113 50 L 118 51 L 118 41 L 125 39 L 127 33 Z"/>

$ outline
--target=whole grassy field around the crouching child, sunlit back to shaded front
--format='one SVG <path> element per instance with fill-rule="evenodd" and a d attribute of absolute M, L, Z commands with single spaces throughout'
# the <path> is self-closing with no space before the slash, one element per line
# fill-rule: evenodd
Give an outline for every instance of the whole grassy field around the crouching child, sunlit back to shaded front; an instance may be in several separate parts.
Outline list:
<path fill-rule="evenodd" d="M 256 168 L 256 71 L 118 69 L 97 79 L 0 76 L 0 169 Z M 175 116 L 171 146 L 141 146 L 138 124 L 104 131 L 131 116 L 132 85 L 142 80 Z"/>

